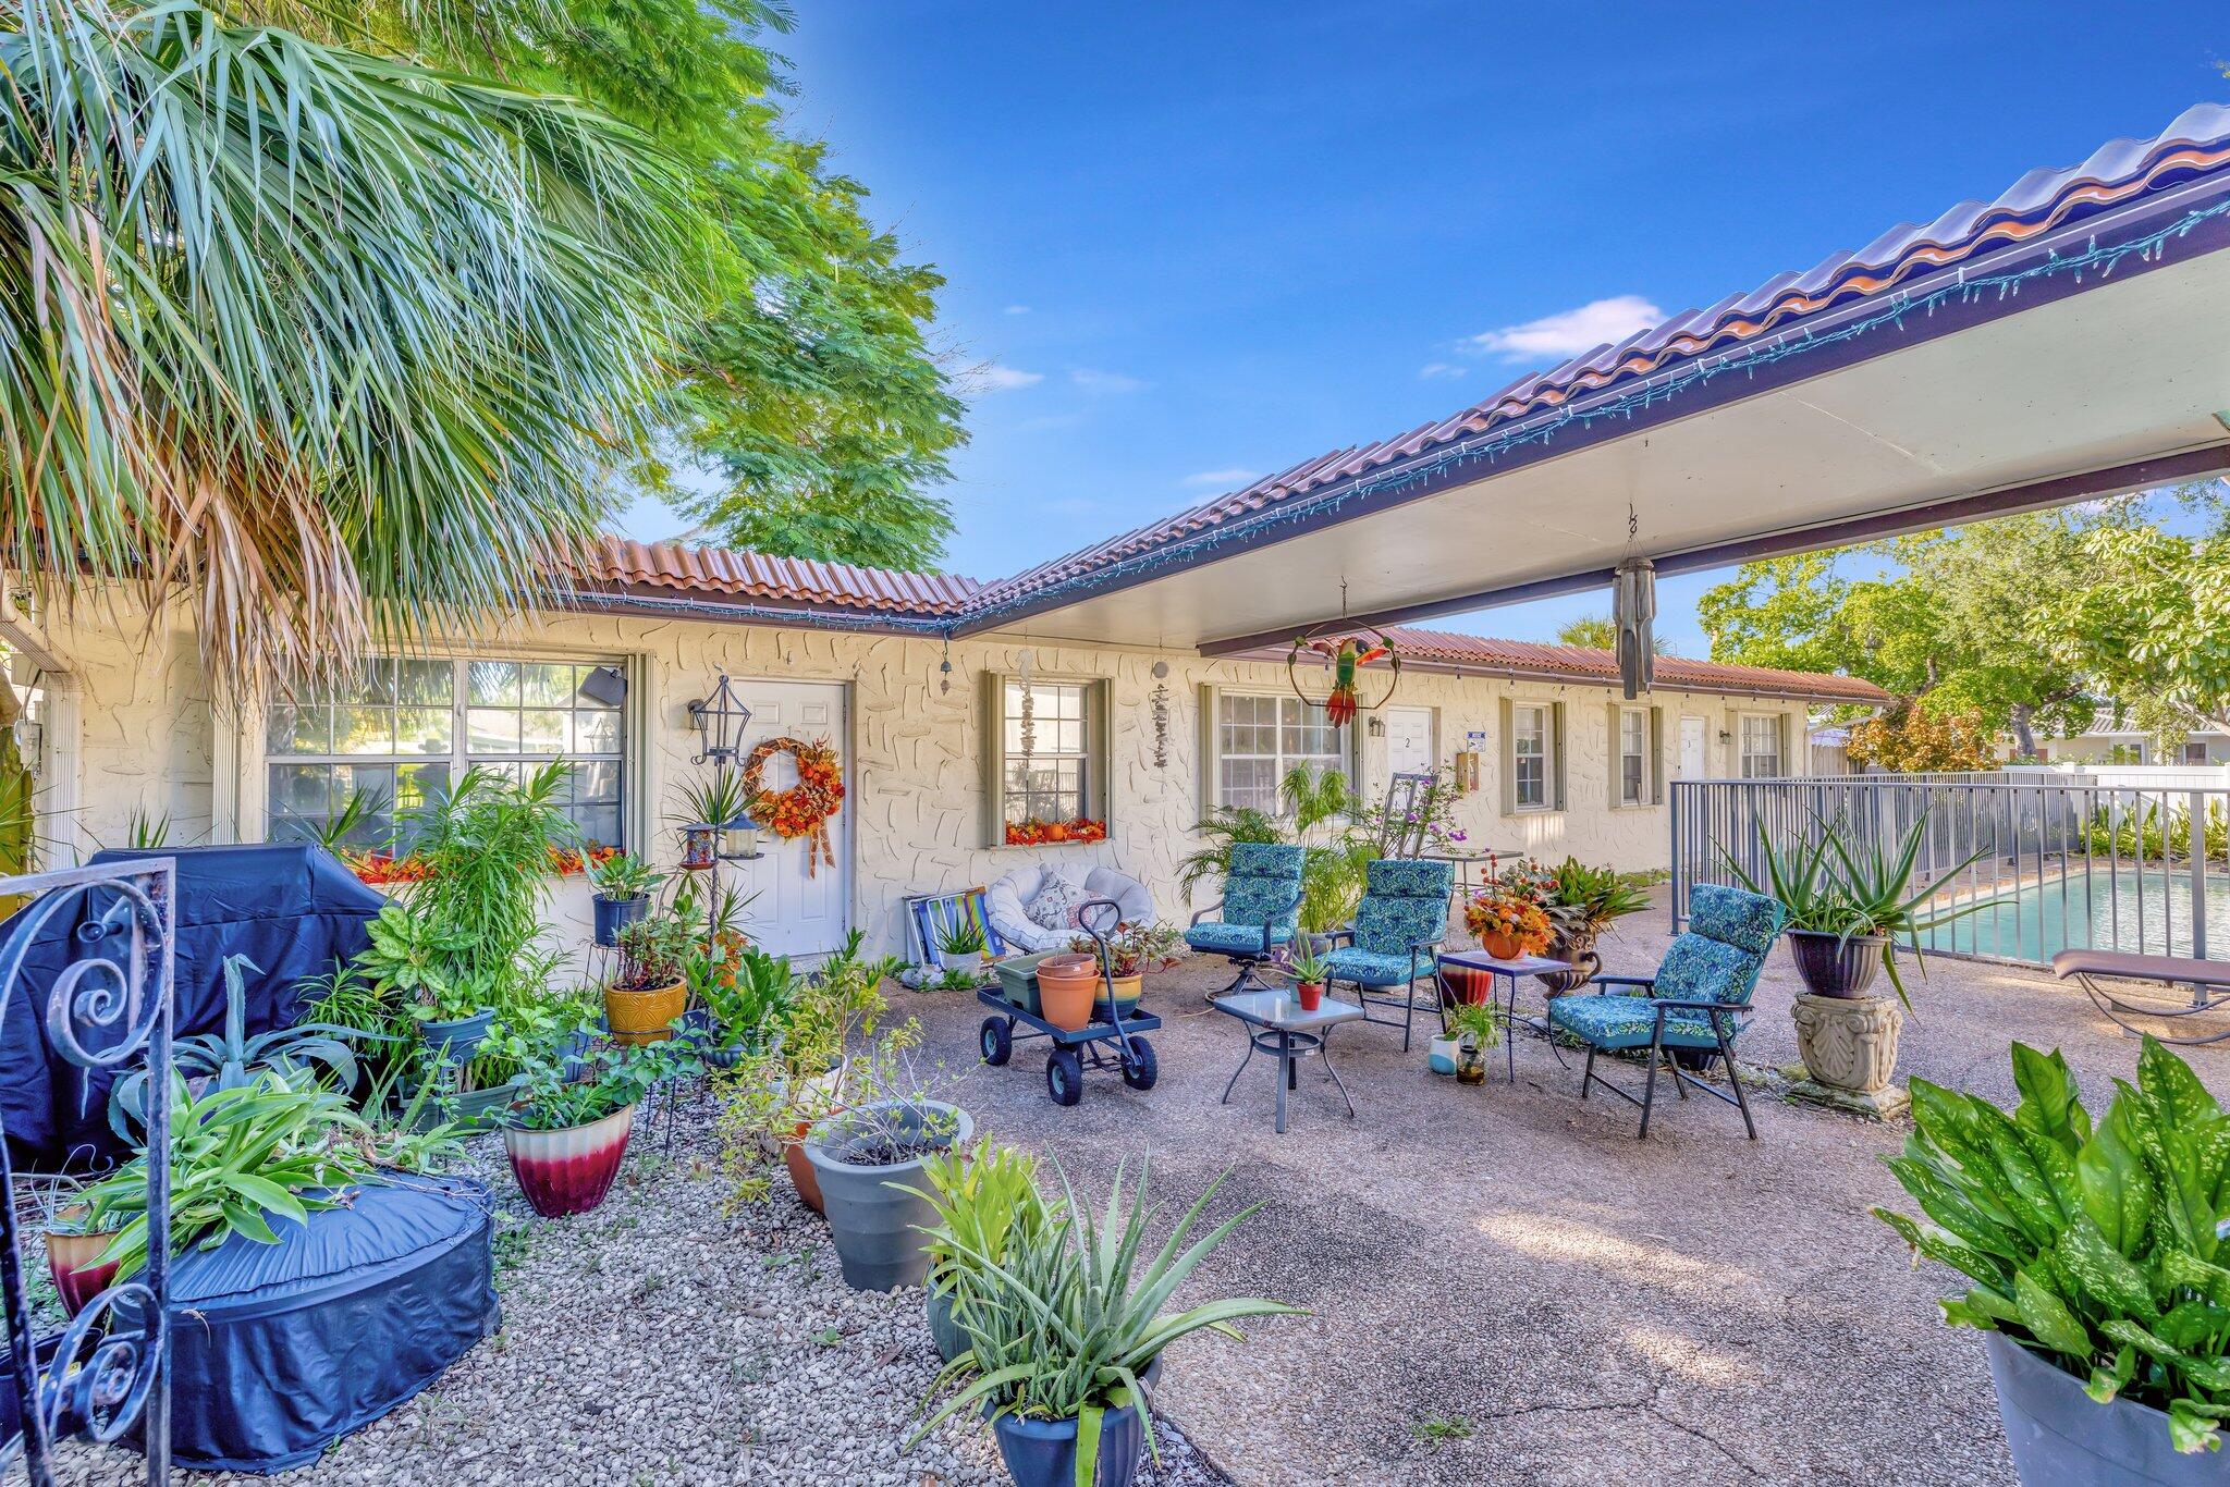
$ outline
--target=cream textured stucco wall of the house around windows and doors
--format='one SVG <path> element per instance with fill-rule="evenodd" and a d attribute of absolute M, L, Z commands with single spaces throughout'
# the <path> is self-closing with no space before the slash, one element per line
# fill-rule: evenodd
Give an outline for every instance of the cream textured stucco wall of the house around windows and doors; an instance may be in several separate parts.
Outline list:
<path fill-rule="evenodd" d="M 0 626 L 4 629 L 4 626 Z M 56 733 L 56 774 L 74 769 L 78 789 L 74 836 L 120 843 L 134 807 L 172 816 L 172 840 L 241 840 L 263 829 L 263 760 L 254 718 L 234 718 L 212 704 L 194 660 L 192 635 L 178 626 L 149 629 L 136 620 L 94 615 L 49 618 L 36 642 L 67 667 L 78 696 L 76 760 Z M 1057 642 L 968 640 L 952 644 L 952 684 L 939 689 L 943 649 L 934 640 L 852 631 L 740 626 L 707 620 L 624 615 L 542 615 L 491 633 L 479 649 L 502 653 L 562 653 L 573 658 L 629 658 L 638 687 L 633 740 L 633 827 L 649 829 L 656 856 L 673 856 L 665 829 L 676 783 L 689 774 L 694 736 L 685 704 L 709 691 L 727 671 L 749 700 L 749 678 L 832 680 L 850 696 L 845 758 L 852 771 L 845 809 L 852 854 L 852 919 L 883 947 L 903 945 L 901 896 L 988 883 L 1017 863 L 1061 854 L 1077 863 L 1108 863 L 1153 885 L 1164 912 L 1180 914 L 1175 863 L 1193 847 L 1200 818 L 1200 687 L 1282 693 L 1282 664 L 1202 660 L 1182 651 L 1111 651 Z M 1108 678 L 1113 707 L 1111 840 L 1068 847 L 986 845 L 983 771 L 979 762 L 986 673 L 1030 669 L 1046 678 Z M 1155 767 L 1151 691 L 1153 664 L 1166 662 L 1166 767 Z M 1503 814 L 1501 700 L 1563 702 L 1565 809 Z M 1612 809 L 1608 767 L 1612 751 L 1608 702 L 1601 687 L 1557 687 L 1456 678 L 1412 669 L 1396 702 L 1438 709 L 1438 754 L 1447 762 L 1465 733 L 1483 731 L 1481 789 L 1458 809 L 1474 847 L 1577 854 L 1617 867 L 1664 867 L 1666 807 Z M 1706 718 L 1710 776 L 1735 771 L 1733 742 L 1742 711 L 1784 716 L 1784 756 L 1802 767 L 1804 711 L 1795 702 L 1655 693 L 1664 709 L 1664 767 L 1679 758 L 1681 713 Z M 647 747 L 644 747 L 647 742 Z M 1385 787 L 1385 740 L 1360 742 L 1367 789 Z M 569 919 L 580 912 L 564 894 Z"/>

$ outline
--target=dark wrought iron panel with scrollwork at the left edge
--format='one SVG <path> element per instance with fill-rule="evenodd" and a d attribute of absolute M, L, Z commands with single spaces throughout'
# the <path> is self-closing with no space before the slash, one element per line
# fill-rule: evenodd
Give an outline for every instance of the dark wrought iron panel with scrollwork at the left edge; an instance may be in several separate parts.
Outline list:
<path fill-rule="evenodd" d="M 0 876 L 0 896 L 31 898 L 0 943 L 0 1010 L 45 992 L 54 1052 L 87 1070 L 147 1063 L 147 1266 L 91 1298 L 60 1338 L 38 1340 L 22 1280 L 16 1204 L 0 1204 L 0 1295 L 20 1433 L 0 1456 L 22 1458 L 31 1487 L 51 1487 L 58 1440 L 118 1440 L 138 1427 L 147 1483 L 169 1480 L 169 1101 L 176 985 L 176 861 Z M 71 954 L 51 985 L 25 985 L 25 963 L 49 923 L 83 907 Z M 4 1133 L 0 1133 L 4 1135 Z M 16 1173 L 0 1139 L 0 1182 Z"/>

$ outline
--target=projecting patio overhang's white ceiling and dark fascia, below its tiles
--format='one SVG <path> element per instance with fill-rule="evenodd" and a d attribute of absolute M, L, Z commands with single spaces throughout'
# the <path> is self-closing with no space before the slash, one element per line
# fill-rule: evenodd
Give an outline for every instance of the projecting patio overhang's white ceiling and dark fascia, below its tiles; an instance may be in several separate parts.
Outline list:
<path fill-rule="evenodd" d="M 957 633 L 1258 649 L 2230 473 L 2230 178 L 975 604 Z M 1639 533 L 1628 544 L 1628 513 Z M 995 595 L 986 595 L 995 597 Z"/>

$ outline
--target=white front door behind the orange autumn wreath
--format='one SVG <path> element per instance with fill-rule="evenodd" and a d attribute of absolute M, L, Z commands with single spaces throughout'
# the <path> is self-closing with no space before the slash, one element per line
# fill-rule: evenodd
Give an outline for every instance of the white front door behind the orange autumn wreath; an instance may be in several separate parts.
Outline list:
<path fill-rule="evenodd" d="M 852 736 L 845 729 L 845 689 L 841 682 L 734 682 L 736 696 L 752 709 L 743 731 L 743 751 L 767 738 L 816 742 L 827 738 L 845 765 L 850 791 Z M 767 760 L 763 785 L 789 789 L 798 771 L 787 754 Z M 734 883 L 749 903 L 752 941 L 767 954 L 825 954 L 843 945 L 852 914 L 852 811 L 859 798 L 847 794 L 843 809 L 830 820 L 830 847 L 836 865 L 812 861 L 803 838 L 783 840 L 760 829 L 756 863 L 720 863 L 723 883 Z"/>

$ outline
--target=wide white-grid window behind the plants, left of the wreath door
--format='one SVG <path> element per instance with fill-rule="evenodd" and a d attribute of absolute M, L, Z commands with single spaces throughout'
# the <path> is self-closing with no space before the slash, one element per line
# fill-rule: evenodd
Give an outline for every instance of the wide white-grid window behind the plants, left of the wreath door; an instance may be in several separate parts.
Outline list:
<path fill-rule="evenodd" d="M 384 847 L 473 765 L 520 778 L 564 758 L 566 816 L 586 840 L 624 845 L 622 709 L 582 691 L 600 667 L 618 662 L 384 658 L 357 682 L 281 700 L 263 731 L 265 834 L 312 836 L 361 794 L 372 809 L 348 840 Z"/>

